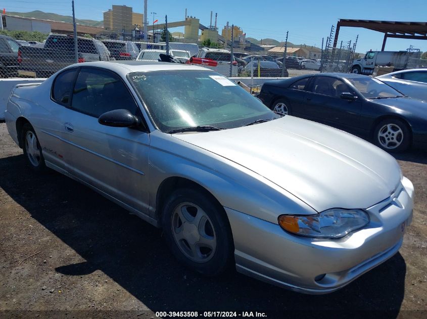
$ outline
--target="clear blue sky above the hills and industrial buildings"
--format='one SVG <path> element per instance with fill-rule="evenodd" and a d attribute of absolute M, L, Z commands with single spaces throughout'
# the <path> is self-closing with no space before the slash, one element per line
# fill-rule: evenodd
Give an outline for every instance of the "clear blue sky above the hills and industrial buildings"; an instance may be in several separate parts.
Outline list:
<path fill-rule="evenodd" d="M 79 19 L 103 20 L 103 11 L 111 5 L 126 5 L 134 12 L 144 12 L 144 0 L 75 0 L 76 17 Z M 320 46 L 321 39 L 329 35 L 331 25 L 338 19 L 366 19 L 392 21 L 427 21 L 425 0 L 359 0 L 359 1 L 186 1 L 186 0 L 148 0 L 148 16 L 156 12 L 155 19 L 164 22 L 184 19 L 187 15 L 196 16 L 208 26 L 210 11 L 218 13 L 218 27 L 226 22 L 241 27 L 248 37 L 257 39 L 273 38 L 283 41 L 289 30 L 288 40 L 295 44 Z M 71 0 L 6 0 L 0 2 L 6 11 L 29 12 L 41 10 L 61 15 L 71 15 Z M 171 31 L 183 31 L 180 28 Z M 356 51 L 381 50 L 383 33 L 360 28 L 341 28 L 340 41 L 354 41 L 359 35 Z M 386 50 L 405 50 L 413 45 L 427 51 L 427 41 L 388 39 Z"/>

